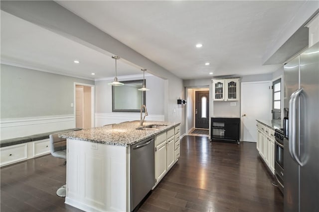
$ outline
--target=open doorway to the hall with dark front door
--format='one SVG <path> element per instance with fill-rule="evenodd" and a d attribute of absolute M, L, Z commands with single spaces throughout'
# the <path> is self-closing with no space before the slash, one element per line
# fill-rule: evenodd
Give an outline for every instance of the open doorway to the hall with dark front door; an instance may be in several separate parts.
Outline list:
<path fill-rule="evenodd" d="M 185 113 L 186 135 L 208 137 L 209 117 L 210 117 L 209 86 L 186 88 L 186 93 L 187 93 L 187 105 L 186 105 L 186 113 Z M 196 94 L 197 94 L 197 100 L 196 100 Z"/>

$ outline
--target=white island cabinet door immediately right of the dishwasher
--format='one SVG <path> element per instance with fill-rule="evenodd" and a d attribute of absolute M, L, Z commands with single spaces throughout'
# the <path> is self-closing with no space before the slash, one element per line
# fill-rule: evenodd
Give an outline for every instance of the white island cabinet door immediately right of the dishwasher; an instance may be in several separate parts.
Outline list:
<path fill-rule="evenodd" d="M 156 161 L 156 182 L 159 182 L 160 179 L 167 172 L 167 160 L 166 160 L 166 141 L 162 142 L 156 147 L 155 151 L 155 161 Z"/>

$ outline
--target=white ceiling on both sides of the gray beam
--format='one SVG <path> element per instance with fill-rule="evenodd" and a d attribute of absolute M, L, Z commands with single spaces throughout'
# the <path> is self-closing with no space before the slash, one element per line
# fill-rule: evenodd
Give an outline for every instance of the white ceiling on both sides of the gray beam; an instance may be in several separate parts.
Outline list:
<path fill-rule="evenodd" d="M 267 48 L 305 1 L 56 1 L 182 79 L 271 73 Z M 196 43 L 203 47 L 197 49 Z M 1 62 L 89 78 L 114 76 L 104 55 L 1 11 Z M 120 55 L 119 55 L 120 56 Z M 120 56 L 121 57 L 121 56 Z M 79 60 L 79 64 L 74 64 Z M 204 64 L 208 62 L 209 66 Z M 119 61 L 118 75 L 140 67 Z M 91 72 L 95 72 L 94 76 Z M 209 75 L 213 72 L 213 75 Z"/>

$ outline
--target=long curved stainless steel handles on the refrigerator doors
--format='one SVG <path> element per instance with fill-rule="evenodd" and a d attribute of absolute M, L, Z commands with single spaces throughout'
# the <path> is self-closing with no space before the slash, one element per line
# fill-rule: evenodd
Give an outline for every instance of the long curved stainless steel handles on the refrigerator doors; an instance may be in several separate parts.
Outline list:
<path fill-rule="evenodd" d="M 291 157 L 300 165 L 304 164 L 300 161 L 299 157 L 296 154 L 296 105 L 298 103 L 297 97 L 302 93 L 303 88 L 298 89 L 293 94 L 291 94 L 289 100 L 289 153 Z"/>

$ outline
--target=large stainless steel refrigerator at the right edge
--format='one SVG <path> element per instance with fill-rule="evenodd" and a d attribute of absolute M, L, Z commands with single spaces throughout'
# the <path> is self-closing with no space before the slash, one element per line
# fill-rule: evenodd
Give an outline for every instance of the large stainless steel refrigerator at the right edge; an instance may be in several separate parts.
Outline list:
<path fill-rule="evenodd" d="M 319 43 L 284 69 L 284 211 L 319 212 Z"/>

